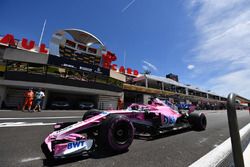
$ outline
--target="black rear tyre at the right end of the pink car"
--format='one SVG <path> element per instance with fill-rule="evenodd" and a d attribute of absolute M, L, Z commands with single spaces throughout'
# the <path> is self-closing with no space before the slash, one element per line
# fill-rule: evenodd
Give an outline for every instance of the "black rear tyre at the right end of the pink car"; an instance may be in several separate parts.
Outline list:
<path fill-rule="evenodd" d="M 195 130 L 205 130 L 207 127 L 207 118 L 203 113 L 191 113 L 188 120 Z"/>

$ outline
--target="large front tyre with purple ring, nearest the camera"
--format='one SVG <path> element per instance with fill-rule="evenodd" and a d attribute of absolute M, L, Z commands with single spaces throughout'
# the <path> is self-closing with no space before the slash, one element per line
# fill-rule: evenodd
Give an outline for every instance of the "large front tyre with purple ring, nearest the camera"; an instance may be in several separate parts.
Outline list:
<path fill-rule="evenodd" d="M 134 126 L 125 115 L 109 115 L 101 124 L 98 146 L 113 152 L 128 150 L 134 139 Z"/>

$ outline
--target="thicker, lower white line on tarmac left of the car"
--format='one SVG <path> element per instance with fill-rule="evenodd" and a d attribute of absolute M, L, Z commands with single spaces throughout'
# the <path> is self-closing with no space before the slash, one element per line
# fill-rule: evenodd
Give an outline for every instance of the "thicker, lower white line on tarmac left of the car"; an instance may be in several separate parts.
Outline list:
<path fill-rule="evenodd" d="M 56 123 L 43 123 L 43 122 L 3 122 L 0 123 L 0 128 L 9 128 L 9 127 L 24 127 L 24 126 L 47 126 L 47 125 L 55 125 Z"/>

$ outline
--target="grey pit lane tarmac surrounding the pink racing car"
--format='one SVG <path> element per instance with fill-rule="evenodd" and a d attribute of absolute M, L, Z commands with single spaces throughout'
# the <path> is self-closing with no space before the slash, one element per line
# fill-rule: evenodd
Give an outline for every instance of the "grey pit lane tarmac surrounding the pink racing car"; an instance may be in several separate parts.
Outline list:
<path fill-rule="evenodd" d="M 40 145 L 44 138 L 53 130 L 50 123 L 77 121 L 81 119 L 83 112 L 0 112 L 1 124 L 6 122 L 48 124 L 0 127 L 0 164 L 1 166 L 76 167 L 188 166 L 229 137 L 225 111 L 205 111 L 205 114 L 208 120 L 208 126 L 205 131 L 197 132 L 187 130 L 172 135 L 166 134 L 150 141 L 135 139 L 129 147 L 129 150 L 122 154 L 112 154 L 99 151 L 90 156 L 84 155 L 70 160 L 48 162 L 44 158 Z M 248 111 L 239 111 L 237 114 L 240 128 L 250 122 Z M 18 119 L 3 119 L 15 117 Z M 51 119 L 49 119 L 49 117 L 51 117 Z M 54 118 L 52 119 L 52 117 Z"/>

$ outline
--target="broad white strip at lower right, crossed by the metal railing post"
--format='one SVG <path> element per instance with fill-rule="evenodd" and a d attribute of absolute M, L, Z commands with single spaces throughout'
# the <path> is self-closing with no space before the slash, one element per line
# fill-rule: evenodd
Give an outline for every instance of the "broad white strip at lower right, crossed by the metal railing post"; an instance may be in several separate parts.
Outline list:
<path fill-rule="evenodd" d="M 250 123 L 240 130 L 241 146 L 245 152 L 246 148 L 250 146 Z M 250 147 L 248 147 L 249 149 Z M 249 150 L 248 150 L 249 152 Z M 250 166 L 246 164 L 247 158 L 244 157 L 245 167 Z M 225 142 L 218 147 L 201 157 L 199 160 L 191 164 L 189 167 L 231 167 L 234 166 L 231 140 L 228 138 Z"/>

